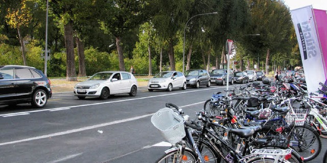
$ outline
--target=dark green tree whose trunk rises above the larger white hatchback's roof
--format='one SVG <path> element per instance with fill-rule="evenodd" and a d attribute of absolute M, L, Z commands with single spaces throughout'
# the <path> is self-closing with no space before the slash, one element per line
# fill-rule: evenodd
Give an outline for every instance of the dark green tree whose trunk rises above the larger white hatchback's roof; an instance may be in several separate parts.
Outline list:
<path fill-rule="evenodd" d="M 136 29 L 148 18 L 146 0 L 101 1 L 103 10 L 100 16 L 101 29 L 115 37 L 119 57 L 119 69 L 125 71 L 122 36 Z"/>

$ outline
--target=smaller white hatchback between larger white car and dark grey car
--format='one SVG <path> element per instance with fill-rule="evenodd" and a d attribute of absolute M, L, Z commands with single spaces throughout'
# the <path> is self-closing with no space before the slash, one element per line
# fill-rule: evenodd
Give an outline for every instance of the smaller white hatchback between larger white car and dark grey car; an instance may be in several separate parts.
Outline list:
<path fill-rule="evenodd" d="M 186 78 L 181 72 L 166 71 L 156 74 L 148 82 L 148 90 L 166 89 L 172 91 L 173 88 L 186 89 Z"/>

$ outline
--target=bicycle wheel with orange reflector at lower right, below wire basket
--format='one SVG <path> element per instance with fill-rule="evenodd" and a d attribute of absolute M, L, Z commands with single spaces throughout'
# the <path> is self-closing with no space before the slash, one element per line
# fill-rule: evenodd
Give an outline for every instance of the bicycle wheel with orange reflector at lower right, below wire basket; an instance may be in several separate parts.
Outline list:
<path fill-rule="evenodd" d="M 303 156 L 305 161 L 316 158 L 321 151 L 319 134 L 311 126 L 295 126 L 291 138 L 292 146 Z"/>

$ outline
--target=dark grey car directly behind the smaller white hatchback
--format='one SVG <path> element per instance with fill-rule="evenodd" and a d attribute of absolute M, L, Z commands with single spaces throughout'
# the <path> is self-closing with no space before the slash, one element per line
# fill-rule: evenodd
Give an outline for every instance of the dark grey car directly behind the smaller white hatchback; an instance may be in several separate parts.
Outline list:
<path fill-rule="evenodd" d="M 204 69 L 190 69 L 184 73 L 186 78 L 186 86 L 199 88 L 201 85 L 210 87 L 210 76 Z"/>

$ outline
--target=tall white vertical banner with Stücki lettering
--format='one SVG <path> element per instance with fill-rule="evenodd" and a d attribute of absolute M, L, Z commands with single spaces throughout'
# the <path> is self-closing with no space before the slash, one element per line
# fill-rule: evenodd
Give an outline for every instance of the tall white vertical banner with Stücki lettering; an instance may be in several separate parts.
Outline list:
<path fill-rule="evenodd" d="M 317 91 L 325 82 L 321 51 L 311 6 L 291 10 L 309 92 Z"/>

